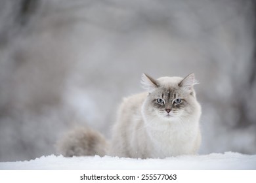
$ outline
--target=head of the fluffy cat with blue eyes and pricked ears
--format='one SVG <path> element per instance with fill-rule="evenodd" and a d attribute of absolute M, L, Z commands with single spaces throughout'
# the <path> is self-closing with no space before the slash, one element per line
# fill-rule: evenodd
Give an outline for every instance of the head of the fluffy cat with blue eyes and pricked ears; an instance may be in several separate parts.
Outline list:
<path fill-rule="evenodd" d="M 158 79 L 143 74 L 142 86 L 148 91 L 148 97 L 142 107 L 144 116 L 169 121 L 193 118 L 195 115 L 199 118 L 201 108 L 196 100 L 195 84 L 198 82 L 194 74 L 185 78 Z"/>

